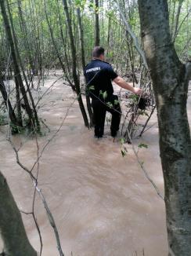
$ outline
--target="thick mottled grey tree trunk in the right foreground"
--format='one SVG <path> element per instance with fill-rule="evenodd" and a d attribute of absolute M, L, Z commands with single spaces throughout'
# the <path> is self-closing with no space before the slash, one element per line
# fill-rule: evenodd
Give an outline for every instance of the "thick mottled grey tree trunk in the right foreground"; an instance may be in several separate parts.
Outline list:
<path fill-rule="evenodd" d="M 157 101 L 169 255 L 189 256 L 191 139 L 186 112 L 189 64 L 178 60 L 171 43 L 167 0 L 139 0 L 139 15 Z"/>

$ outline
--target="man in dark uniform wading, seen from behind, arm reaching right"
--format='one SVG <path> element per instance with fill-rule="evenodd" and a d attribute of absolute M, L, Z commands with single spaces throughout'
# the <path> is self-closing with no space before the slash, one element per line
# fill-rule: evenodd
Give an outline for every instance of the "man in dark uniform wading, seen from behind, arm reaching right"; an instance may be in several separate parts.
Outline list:
<path fill-rule="evenodd" d="M 92 108 L 95 122 L 95 137 L 103 137 L 106 112 L 110 112 L 111 136 L 116 137 L 121 121 L 121 107 L 111 81 L 121 88 L 140 95 L 142 90 L 132 87 L 118 76 L 111 65 L 104 61 L 104 49 L 95 46 L 92 52 L 93 60 L 85 67 L 85 82 L 89 96 L 92 98 Z"/>

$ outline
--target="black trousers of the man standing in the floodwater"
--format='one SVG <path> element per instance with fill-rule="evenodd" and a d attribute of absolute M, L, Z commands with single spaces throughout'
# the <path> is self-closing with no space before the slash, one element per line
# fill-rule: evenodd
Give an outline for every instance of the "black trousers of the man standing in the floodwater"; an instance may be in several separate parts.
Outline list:
<path fill-rule="evenodd" d="M 117 101 L 117 95 L 112 95 L 104 103 L 103 100 L 92 99 L 92 108 L 95 123 L 95 137 L 103 137 L 106 112 L 110 112 L 112 115 L 110 126 L 111 136 L 115 137 L 117 135 L 117 130 L 119 130 L 121 121 L 121 106 Z"/>

